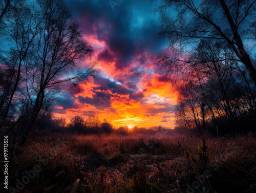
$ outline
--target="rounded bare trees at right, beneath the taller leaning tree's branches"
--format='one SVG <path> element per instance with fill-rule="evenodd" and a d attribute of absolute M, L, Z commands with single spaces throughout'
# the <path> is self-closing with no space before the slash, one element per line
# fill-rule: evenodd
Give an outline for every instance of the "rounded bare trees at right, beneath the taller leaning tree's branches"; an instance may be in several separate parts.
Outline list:
<path fill-rule="evenodd" d="M 232 50 L 220 40 L 200 41 L 188 57 L 186 77 L 177 84 L 177 126 L 189 128 L 188 123 L 194 119 L 194 127 L 202 133 L 202 108 L 206 123 L 214 128 L 222 125 L 225 132 L 237 132 L 238 127 L 243 128 L 239 125 L 242 122 L 254 122 L 255 85 L 232 56 Z"/>

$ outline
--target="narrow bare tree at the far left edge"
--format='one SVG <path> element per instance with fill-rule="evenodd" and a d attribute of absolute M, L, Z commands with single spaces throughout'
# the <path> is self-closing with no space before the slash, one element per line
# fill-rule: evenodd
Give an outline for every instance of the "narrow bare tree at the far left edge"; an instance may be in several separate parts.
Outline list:
<path fill-rule="evenodd" d="M 10 28 L 6 29 L 8 40 L 12 43 L 9 51 L 6 52 L 5 65 L 11 71 L 7 82 L 1 88 L 1 122 L 0 127 L 8 116 L 13 97 L 22 81 L 23 68 L 26 60 L 30 57 L 34 50 L 35 37 L 39 32 L 41 20 L 38 19 L 38 12 L 33 4 L 26 4 L 23 10 L 12 14 L 13 19 L 10 20 Z M 3 103 L 5 108 L 3 109 Z"/>

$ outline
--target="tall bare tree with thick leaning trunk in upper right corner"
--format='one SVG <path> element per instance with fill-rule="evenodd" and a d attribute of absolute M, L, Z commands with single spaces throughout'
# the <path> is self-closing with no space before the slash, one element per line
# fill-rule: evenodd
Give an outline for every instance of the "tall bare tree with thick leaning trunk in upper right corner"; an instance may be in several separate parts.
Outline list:
<path fill-rule="evenodd" d="M 161 19 L 160 34 L 169 39 L 170 48 L 183 47 L 190 52 L 202 39 L 222 40 L 236 54 L 236 58 L 232 59 L 244 64 L 256 85 L 256 70 L 246 47 L 248 39 L 255 39 L 251 25 L 256 21 L 255 0 L 162 2 L 157 9 Z M 162 57 L 160 66 L 167 66 L 170 72 L 184 65 L 184 58 L 180 55 L 174 57 L 162 54 Z"/>

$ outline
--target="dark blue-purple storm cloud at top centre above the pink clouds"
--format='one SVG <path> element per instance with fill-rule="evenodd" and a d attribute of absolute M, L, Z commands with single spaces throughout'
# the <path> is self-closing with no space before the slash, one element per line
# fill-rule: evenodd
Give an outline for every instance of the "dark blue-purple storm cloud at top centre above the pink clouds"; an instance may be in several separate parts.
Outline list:
<path fill-rule="evenodd" d="M 127 67 L 140 52 L 155 52 L 163 44 L 163 40 L 157 38 L 158 24 L 152 17 L 153 5 L 147 0 L 123 1 L 114 11 L 110 1 L 66 1 L 80 19 L 84 31 L 104 40 L 113 53 L 104 50 L 99 59 L 112 61 L 115 57 L 117 69 Z"/>

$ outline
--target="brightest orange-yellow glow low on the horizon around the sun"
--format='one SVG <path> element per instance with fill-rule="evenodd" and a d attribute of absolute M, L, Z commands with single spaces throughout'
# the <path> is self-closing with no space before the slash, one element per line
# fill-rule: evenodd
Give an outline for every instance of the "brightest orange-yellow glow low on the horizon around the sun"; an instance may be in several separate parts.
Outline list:
<path fill-rule="evenodd" d="M 170 88 L 170 85 L 166 83 L 160 83 L 154 76 L 151 80 L 146 80 L 143 84 L 145 85 L 141 94 L 147 100 L 145 103 L 141 103 L 134 99 L 130 99 L 130 94 L 124 95 L 119 93 L 112 93 L 110 90 L 102 91 L 103 94 L 111 94 L 110 106 L 102 107 L 99 104 L 96 106 L 82 103 L 77 97 L 88 97 L 93 98 L 95 92 L 100 90 L 94 90 L 93 87 L 99 87 L 94 81 L 88 84 L 82 84 L 83 91 L 75 94 L 75 106 L 76 108 L 70 108 L 63 110 L 62 106 L 57 106 L 56 109 L 61 110 L 61 113 L 55 113 L 56 117 L 65 117 L 69 122 L 70 118 L 76 115 L 80 115 L 86 119 L 90 113 L 95 112 L 100 120 L 107 119 L 115 127 L 134 126 L 139 127 L 151 127 L 151 126 L 165 126 L 174 128 L 175 119 L 174 112 L 162 112 L 167 107 L 171 107 L 176 104 L 177 92 Z M 150 84 L 148 84 L 150 82 Z M 103 97 L 102 97 L 103 98 Z M 164 102 L 164 105 L 156 104 L 157 102 Z M 166 118 L 167 117 L 167 118 Z"/>

